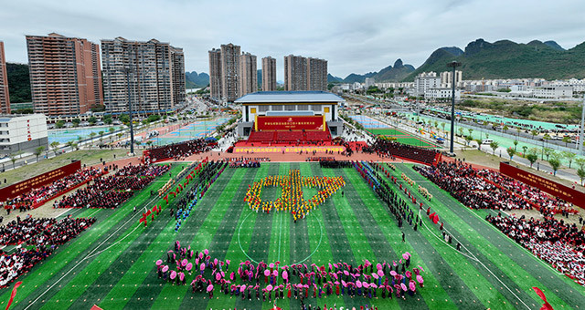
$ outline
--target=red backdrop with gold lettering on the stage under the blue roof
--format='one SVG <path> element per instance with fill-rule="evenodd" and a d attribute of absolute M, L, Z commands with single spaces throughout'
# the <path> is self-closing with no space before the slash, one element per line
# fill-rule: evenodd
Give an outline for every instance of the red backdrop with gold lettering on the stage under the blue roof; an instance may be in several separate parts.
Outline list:
<path fill-rule="evenodd" d="M 256 118 L 256 130 L 324 130 L 323 116 L 288 116 Z"/>

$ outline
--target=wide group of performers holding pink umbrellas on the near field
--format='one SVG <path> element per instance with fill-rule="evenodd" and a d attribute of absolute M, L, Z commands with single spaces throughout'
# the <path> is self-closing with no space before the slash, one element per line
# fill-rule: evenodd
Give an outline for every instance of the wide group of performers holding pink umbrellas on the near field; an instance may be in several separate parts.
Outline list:
<path fill-rule="evenodd" d="M 241 298 L 256 298 L 268 301 L 284 298 L 300 299 L 322 298 L 329 295 L 347 295 L 352 298 L 406 298 L 414 296 L 424 286 L 418 266 L 409 270 L 410 253 L 392 263 L 361 264 L 338 262 L 317 265 L 293 263 L 251 263 L 250 261 L 231 266 L 229 260 L 212 259 L 209 252 L 194 252 L 190 246 L 181 247 L 175 243 L 173 251 L 163 260 L 155 263 L 158 278 L 165 282 L 186 285 L 187 276 L 194 294 L 207 293 L 212 298 L 214 292 Z M 230 269 L 231 267 L 231 269 Z"/>

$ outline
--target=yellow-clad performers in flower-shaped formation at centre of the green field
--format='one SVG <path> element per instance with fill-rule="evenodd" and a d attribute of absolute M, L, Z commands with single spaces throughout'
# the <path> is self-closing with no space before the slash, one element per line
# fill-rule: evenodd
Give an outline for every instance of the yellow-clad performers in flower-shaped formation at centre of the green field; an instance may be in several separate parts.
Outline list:
<path fill-rule="evenodd" d="M 275 201 L 262 201 L 262 188 L 265 186 L 282 187 L 282 196 Z M 346 186 L 343 177 L 302 177 L 299 170 L 291 170 L 289 175 L 271 175 L 249 185 L 244 202 L 248 202 L 250 209 L 256 212 L 291 212 L 296 221 L 303 219 L 343 186 Z M 317 188 L 319 191 L 311 199 L 305 200 L 303 187 Z"/>

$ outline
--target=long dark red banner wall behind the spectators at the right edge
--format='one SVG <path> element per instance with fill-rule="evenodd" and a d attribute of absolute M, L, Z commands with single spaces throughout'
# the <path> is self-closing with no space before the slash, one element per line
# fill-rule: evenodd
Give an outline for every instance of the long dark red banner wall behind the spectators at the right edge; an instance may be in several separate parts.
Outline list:
<path fill-rule="evenodd" d="M 507 163 L 500 162 L 500 172 L 509 176 L 512 179 L 521 181 L 530 186 L 534 186 L 541 191 L 548 192 L 553 196 L 557 196 L 567 202 L 571 202 L 581 208 L 585 209 L 585 193 L 573 190 L 568 186 L 560 184 L 556 181 L 550 181 L 546 178 L 537 176 L 528 171 L 523 171 Z"/>

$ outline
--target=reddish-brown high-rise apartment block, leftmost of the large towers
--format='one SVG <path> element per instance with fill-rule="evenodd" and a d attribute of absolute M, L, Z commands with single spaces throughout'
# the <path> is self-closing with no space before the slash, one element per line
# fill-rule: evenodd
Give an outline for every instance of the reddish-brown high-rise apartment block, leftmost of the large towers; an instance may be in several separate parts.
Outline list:
<path fill-rule="evenodd" d="M 100 47 L 58 34 L 27 36 L 35 113 L 79 115 L 103 104 Z"/>

